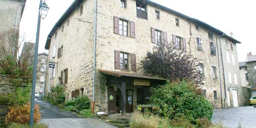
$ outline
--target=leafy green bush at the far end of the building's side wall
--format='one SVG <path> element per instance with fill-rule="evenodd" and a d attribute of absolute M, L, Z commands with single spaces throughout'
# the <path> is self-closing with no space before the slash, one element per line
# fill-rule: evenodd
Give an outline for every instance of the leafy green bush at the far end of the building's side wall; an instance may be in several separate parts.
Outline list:
<path fill-rule="evenodd" d="M 51 93 L 47 97 L 47 101 L 53 105 L 58 105 L 65 101 L 64 85 L 58 85 L 51 88 Z"/>

